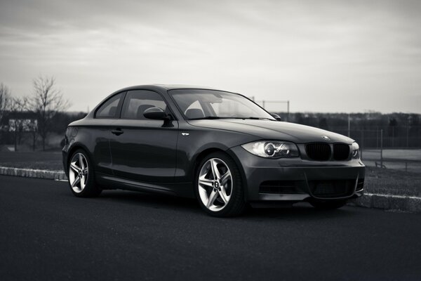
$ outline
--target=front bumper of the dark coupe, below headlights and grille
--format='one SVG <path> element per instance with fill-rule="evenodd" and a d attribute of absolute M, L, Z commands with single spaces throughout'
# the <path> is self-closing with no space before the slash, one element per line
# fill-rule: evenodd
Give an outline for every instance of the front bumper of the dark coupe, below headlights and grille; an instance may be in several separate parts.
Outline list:
<path fill-rule="evenodd" d="M 265 159 L 241 146 L 229 150 L 241 167 L 246 200 L 340 200 L 363 195 L 365 166 L 359 159 L 316 162 L 296 158 Z"/>

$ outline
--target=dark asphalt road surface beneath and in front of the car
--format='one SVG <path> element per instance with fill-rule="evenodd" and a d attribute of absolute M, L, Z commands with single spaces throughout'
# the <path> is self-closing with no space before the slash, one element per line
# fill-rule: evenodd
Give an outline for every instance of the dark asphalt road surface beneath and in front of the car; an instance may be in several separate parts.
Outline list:
<path fill-rule="evenodd" d="M 194 200 L 0 176 L 0 280 L 421 280 L 421 215 L 206 216 Z"/>

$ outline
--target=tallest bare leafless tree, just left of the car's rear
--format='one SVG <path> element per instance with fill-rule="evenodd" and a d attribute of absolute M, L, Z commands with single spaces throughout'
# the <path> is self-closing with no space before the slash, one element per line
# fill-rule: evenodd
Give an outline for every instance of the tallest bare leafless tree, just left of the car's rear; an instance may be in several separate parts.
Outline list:
<path fill-rule="evenodd" d="M 46 149 L 46 138 L 51 130 L 55 115 L 69 106 L 61 91 L 55 86 L 54 77 L 39 76 L 33 81 L 34 92 L 31 99 L 32 110 L 38 117 L 37 129 L 42 141 L 43 150 Z"/>

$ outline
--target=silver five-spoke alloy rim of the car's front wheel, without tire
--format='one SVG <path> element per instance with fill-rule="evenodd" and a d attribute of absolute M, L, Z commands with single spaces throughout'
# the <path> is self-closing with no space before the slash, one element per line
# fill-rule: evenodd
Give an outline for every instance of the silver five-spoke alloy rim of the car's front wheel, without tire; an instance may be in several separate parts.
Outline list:
<path fill-rule="evenodd" d="M 210 211 L 220 211 L 229 203 L 232 195 L 232 174 L 228 165 L 219 158 L 211 158 L 199 172 L 199 196 Z"/>

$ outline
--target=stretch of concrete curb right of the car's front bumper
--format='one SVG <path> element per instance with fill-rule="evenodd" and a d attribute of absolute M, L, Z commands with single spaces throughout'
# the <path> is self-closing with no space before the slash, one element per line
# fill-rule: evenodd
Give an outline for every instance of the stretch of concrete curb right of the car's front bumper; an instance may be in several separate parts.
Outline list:
<path fill-rule="evenodd" d="M 362 197 L 350 200 L 349 205 L 385 210 L 421 213 L 421 197 L 364 193 Z"/>

